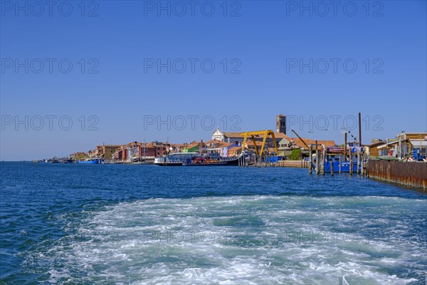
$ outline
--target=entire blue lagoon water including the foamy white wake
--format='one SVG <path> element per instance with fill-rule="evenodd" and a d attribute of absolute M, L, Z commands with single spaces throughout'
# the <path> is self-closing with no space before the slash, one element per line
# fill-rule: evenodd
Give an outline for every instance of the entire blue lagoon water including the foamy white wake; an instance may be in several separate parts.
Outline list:
<path fill-rule="evenodd" d="M 0 166 L 0 284 L 426 284 L 416 190 L 292 168 Z"/>

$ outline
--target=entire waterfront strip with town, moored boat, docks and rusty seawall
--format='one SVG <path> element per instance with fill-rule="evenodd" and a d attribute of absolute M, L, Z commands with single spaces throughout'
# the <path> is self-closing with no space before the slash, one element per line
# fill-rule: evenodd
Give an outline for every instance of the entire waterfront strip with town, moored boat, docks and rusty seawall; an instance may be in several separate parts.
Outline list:
<path fill-rule="evenodd" d="M 242 133 L 217 128 L 209 140 L 192 142 L 138 142 L 124 145 L 102 143 L 70 157 L 44 162 L 78 164 L 132 164 L 162 166 L 306 167 L 311 175 L 341 174 L 374 177 L 411 187 L 427 189 L 427 133 L 402 131 L 395 138 L 376 138 L 362 144 L 359 133 L 346 130 L 344 143 L 319 138 L 302 138 L 288 130 L 285 115 L 276 115 L 275 130 Z M 311 132 L 314 133 L 314 132 Z M 40 162 L 40 161 L 33 161 Z M 402 163 L 413 162 L 413 163 Z M 421 163 L 416 163 L 421 162 Z"/>

